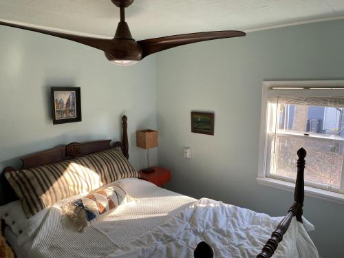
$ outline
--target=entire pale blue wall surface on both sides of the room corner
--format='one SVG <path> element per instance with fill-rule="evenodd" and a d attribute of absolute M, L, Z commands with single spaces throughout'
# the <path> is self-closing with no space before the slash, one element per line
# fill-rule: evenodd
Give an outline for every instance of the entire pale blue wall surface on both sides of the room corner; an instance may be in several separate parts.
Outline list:
<path fill-rule="evenodd" d="M 135 131 L 155 128 L 157 117 L 159 164 L 173 171 L 170 189 L 283 215 L 292 193 L 255 181 L 261 82 L 343 78 L 343 29 L 344 21 L 331 21 L 253 32 L 116 67 L 87 46 L 0 27 L 0 169 L 56 144 L 118 140 L 123 113 L 139 169 L 146 156 Z M 52 86 L 81 87 L 82 122 L 52 125 Z M 191 110 L 215 111 L 215 136 L 191 133 Z M 182 157 L 184 146 L 193 148 L 192 160 Z M 156 153 L 151 158 L 154 164 Z M 344 206 L 306 197 L 305 216 L 321 255 L 343 257 Z"/>

